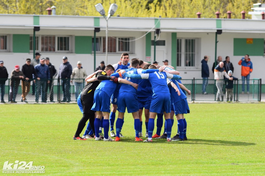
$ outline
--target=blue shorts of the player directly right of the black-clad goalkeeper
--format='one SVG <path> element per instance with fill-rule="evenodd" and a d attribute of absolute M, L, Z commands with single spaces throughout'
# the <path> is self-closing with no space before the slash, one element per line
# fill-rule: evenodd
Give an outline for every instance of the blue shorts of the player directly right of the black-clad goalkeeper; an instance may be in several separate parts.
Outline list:
<path fill-rule="evenodd" d="M 95 90 L 94 93 L 94 104 L 91 108 L 93 111 L 111 112 L 111 99 L 102 90 Z"/>

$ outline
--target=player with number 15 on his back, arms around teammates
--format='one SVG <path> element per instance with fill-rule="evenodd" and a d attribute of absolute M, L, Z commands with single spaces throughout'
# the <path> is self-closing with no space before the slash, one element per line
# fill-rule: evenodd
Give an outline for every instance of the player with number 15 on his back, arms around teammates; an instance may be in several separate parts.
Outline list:
<path fill-rule="evenodd" d="M 149 68 L 156 69 L 156 66 L 151 65 Z M 154 119 L 156 118 L 157 113 L 164 113 L 167 129 L 167 141 L 170 142 L 172 124 L 170 121 L 170 93 L 166 79 L 181 79 L 181 77 L 178 75 L 171 75 L 166 72 L 145 73 L 140 75 L 125 73 L 125 76 L 137 79 L 149 79 L 152 85 L 153 96 L 151 100 L 150 116 L 148 122 L 148 139 L 144 142 L 153 142 L 152 135 L 154 130 Z"/>

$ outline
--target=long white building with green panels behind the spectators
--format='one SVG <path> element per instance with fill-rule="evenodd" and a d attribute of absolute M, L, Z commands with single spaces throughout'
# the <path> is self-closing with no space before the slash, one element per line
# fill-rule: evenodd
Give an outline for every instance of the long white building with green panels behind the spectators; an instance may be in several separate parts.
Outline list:
<path fill-rule="evenodd" d="M 0 60 L 8 73 L 16 64 L 22 66 L 26 58 L 33 59 L 33 28 L 36 32 L 36 52 L 49 57 L 57 70 L 62 57 L 68 57 L 73 67 L 81 61 L 87 73 L 94 71 L 93 38 L 96 33 L 96 67 L 105 61 L 105 25 L 103 17 L 54 16 L 54 15 L 0 15 Z M 264 58 L 265 20 L 208 19 L 208 18 L 132 18 L 111 17 L 108 21 L 108 64 L 117 63 L 120 54 L 127 52 L 130 58 L 154 61 L 155 29 L 161 29 L 156 42 L 156 61 L 164 59 L 180 71 L 184 79 L 201 78 L 201 60 L 209 56 L 211 68 L 215 60 L 215 33 L 218 35 L 217 56 L 230 57 L 235 67 L 235 77 L 241 78 L 241 66 L 237 63 L 245 54 L 253 62 L 250 78 L 262 78 Z M 148 31 L 151 31 L 145 35 Z M 144 36 L 145 35 L 145 36 Z M 134 40 L 124 42 L 124 40 Z M 123 41 L 119 41 L 123 40 Z M 105 63 L 106 64 L 106 63 Z"/>

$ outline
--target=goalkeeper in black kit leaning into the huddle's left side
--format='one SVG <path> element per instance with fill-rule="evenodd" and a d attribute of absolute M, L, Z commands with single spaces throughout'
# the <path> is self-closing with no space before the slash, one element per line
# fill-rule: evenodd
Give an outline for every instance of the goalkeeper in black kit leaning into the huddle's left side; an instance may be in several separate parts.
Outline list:
<path fill-rule="evenodd" d="M 96 71 L 92 75 L 89 75 L 87 84 L 85 85 L 83 91 L 80 94 L 81 103 L 83 106 L 83 117 L 78 123 L 76 134 L 74 135 L 74 140 L 87 140 L 80 137 L 80 133 L 86 126 L 86 122 L 89 119 L 90 126 L 95 134 L 94 121 L 95 121 L 95 111 L 91 110 L 93 106 L 94 92 L 98 87 L 101 80 L 112 80 L 118 83 L 118 78 L 115 76 L 110 76 L 114 72 L 114 67 L 112 65 L 107 65 L 104 71 Z"/>

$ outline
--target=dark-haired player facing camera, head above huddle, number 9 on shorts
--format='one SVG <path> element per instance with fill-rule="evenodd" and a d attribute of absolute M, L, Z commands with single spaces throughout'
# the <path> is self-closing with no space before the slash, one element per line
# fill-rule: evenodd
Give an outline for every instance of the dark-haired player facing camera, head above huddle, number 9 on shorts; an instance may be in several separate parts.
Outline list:
<path fill-rule="evenodd" d="M 114 73 L 116 73 L 117 70 L 119 69 L 127 69 L 130 68 L 130 63 L 129 63 L 129 54 L 128 53 L 122 53 L 121 54 L 121 65 L 120 64 L 114 64 Z M 120 90 L 121 84 L 118 84 L 116 90 L 114 91 L 113 95 L 111 96 L 111 104 L 112 104 L 112 109 L 111 109 L 111 113 L 110 113 L 110 117 L 109 117 L 109 122 L 111 125 L 111 137 L 116 137 L 115 133 L 114 133 L 114 122 L 115 122 L 115 113 L 117 111 L 117 99 L 118 99 L 118 94 L 119 94 L 119 90 Z M 124 123 L 124 120 L 122 120 L 122 125 Z M 120 133 L 120 137 L 124 137 L 121 133 Z"/>

